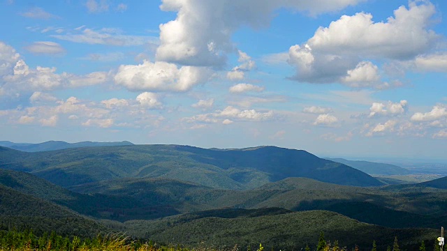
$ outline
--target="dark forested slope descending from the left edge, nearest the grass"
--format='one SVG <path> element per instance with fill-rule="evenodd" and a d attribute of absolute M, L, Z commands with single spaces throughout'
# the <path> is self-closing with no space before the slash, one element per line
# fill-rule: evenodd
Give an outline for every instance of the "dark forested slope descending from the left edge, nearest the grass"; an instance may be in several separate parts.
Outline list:
<path fill-rule="evenodd" d="M 56 231 L 61 235 L 78 236 L 95 236 L 100 231 L 110 231 L 64 206 L 0 185 L 0 229 L 29 228 L 35 233 Z"/>

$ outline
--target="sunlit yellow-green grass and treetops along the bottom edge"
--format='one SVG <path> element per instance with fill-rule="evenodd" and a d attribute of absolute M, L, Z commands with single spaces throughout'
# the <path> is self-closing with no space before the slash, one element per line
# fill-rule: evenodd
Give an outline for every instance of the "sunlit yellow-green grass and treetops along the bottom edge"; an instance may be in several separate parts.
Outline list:
<path fill-rule="evenodd" d="M 312 247 L 312 248 L 311 248 Z M 425 246 L 425 241 L 420 243 L 419 251 L 439 251 L 439 245 L 435 240 L 433 249 L 427 248 Z M 3 250 L 15 250 L 15 251 L 31 251 L 31 250 L 47 250 L 47 251 L 87 251 L 87 250 L 126 250 L 126 251 L 216 251 L 216 250 L 231 250 L 231 251 L 244 251 L 240 249 L 237 245 L 233 248 L 206 248 L 204 244 L 198 245 L 195 248 L 185 248 L 182 245 L 157 245 L 152 241 L 141 241 L 141 240 L 130 240 L 123 236 L 116 234 L 110 234 L 107 236 L 102 236 L 98 234 L 94 238 L 79 238 L 78 236 L 67 237 L 60 236 L 56 232 L 52 231 L 50 233 L 44 232 L 41 236 L 34 234 L 32 230 L 25 231 L 0 231 L 0 251 Z M 321 232 L 320 238 L 316 245 L 306 245 L 305 248 L 301 250 L 305 251 L 360 251 L 360 250 L 371 250 L 379 251 L 377 248 L 376 241 L 373 241 L 372 246 L 360 248 L 358 245 L 355 247 L 346 248 L 341 247 L 338 241 L 330 242 L 325 241 L 324 234 Z M 416 250 L 416 249 L 410 249 Z M 247 247 L 247 251 L 268 251 L 264 250 L 262 244 L 256 246 L 256 248 Z M 274 248 L 271 249 L 274 251 Z M 385 251 L 385 250 L 383 250 Z M 395 237 L 394 243 L 388 245 L 386 251 L 404 251 L 401 250 L 397 237 Z"/>

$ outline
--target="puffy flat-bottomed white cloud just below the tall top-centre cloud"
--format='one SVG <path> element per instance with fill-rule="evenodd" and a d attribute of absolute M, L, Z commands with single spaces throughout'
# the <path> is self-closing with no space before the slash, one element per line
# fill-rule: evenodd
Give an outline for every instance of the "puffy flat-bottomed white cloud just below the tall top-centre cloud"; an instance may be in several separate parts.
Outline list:
<path fill-rule="evenodd" d="M 131 91 L 189 91 L 210 76 L 207 68 L 143 61 L 136 66 L 119 66 L 115 82 Z"/>

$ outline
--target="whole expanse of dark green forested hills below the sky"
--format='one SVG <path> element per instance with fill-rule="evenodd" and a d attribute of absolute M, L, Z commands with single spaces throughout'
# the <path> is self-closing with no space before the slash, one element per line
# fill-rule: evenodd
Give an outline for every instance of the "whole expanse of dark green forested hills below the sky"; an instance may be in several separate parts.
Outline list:
<path fill-rule="evenodd" d="M 48 241 L 52 250 L 94 250 L 99 246 L 88 243 L 98 234 L 129 236 L 115 240 L 123 250 L 147 248 L 138 240 L 149 239 L 162 243 L 160 250 L 200 243 L 210 250 L 255 250 L 259 243 L 316 250 L 323 231 L 325 250 L 371 250 L 374 241 L 386 250 L 395 238 L 401 250 L 423 242 L 431 250 L 447 225 L 446 178 L 385 185 L 306 151 L 270 146 L 0 147 L 0 167 L 0 231 L 36 235 L 15 249 L 42 249 L 36 243 L 53 232 L 45 238 L 61 237 Z M 73 236 L 81 240 L 75 248 Z"/>

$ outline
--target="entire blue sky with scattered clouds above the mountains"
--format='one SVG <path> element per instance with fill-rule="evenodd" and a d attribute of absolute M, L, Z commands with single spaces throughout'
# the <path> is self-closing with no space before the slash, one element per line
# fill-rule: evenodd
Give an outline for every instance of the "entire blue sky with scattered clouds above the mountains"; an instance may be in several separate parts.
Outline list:
<path fill-rule="evenodd" d="M 0 140 L 447 160 L 447 1 L 0 0 Z"/>

